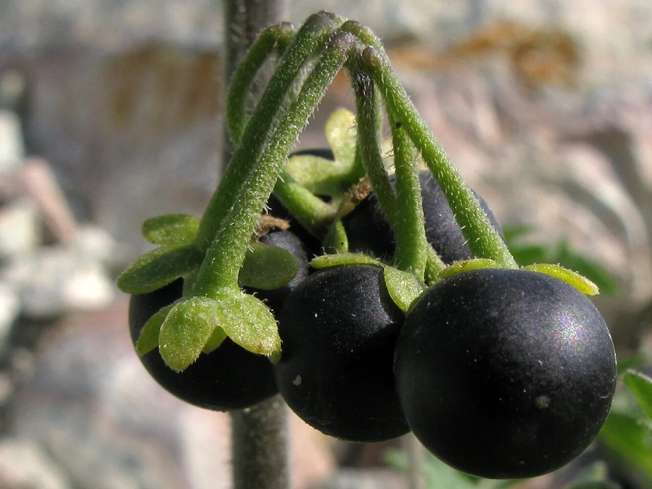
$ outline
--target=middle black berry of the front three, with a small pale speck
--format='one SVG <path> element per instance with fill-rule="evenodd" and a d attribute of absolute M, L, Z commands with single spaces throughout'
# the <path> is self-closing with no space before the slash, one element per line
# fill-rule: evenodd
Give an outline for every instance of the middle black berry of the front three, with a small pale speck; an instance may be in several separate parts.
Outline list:
<path fill-rule="evenodd" d="M 349 441 L 408 432 L 392 374 L 402 312 L 383 269 L 340 265 L 318 271 L 283 304 L 276 383 L 288 406 L 319 431 Z"/>

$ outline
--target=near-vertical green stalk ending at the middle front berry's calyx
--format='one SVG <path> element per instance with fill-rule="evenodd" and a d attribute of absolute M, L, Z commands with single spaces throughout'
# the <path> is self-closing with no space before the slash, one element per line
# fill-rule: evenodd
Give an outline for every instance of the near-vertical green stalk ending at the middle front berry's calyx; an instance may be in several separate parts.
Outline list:
<path fill-rule="evenodd" d="M 396 220 L 394 235 L 396 267 L 413 273 L 423 281 L 426 270 L 426 230 L 421 202 L 421 184 L 414 147 L 404 128 L 389 117 L 394 146 L 394 168 L 396 168 L 396 204 L 400 219 Z"/>

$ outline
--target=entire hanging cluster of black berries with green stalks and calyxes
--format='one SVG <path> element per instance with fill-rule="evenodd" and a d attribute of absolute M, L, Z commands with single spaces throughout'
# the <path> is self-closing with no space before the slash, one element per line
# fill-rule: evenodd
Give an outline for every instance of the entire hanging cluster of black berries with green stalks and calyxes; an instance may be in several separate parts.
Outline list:
<path fill-rule="evenodd" d="M 595 287 L 557 265 L 514 263 L 496 218 L 421 124 L 368 29 L 326 12 L 288 29 L 263 32 L 234 77 L 227 108 L 239 145 L 201 221 L 146 221 L 160 248 L 121 276 L 145 368 L 204 408 L 280 393 L 331 436 L 382 441 L 411 430 L 473 475 L 563 466 L 593 441 L 615 389 L 614 345 L 585 295 Z M 283 92 L 274 90 L 289 93 L 319 46 L 278 117 Z M 263 49 L 282 57 L 246 121 Z M 329 119 L 333 151 L 288 159 L 293 117 L 305 123 L 342 65 L 356 115 Z M 417 170 L 417 152 L 428 170 Z"/>

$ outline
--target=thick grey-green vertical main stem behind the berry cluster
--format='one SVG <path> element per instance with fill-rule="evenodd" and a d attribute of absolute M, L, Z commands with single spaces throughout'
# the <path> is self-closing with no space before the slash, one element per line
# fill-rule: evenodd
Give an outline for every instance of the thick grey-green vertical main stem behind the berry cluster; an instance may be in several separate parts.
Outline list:
<path fill-rule="evenodd" d="M 247 48 L 263 28 L 284 15 L 282 0 L 225 2 L 226 61 L 224 91 Z M 231 141 L 224 129 L 223 162 L 231 158 Z M 287 489 L 288 426 L 286 407 L 278 397 L 231 413 L 231 453 L 234 489 Z"/>

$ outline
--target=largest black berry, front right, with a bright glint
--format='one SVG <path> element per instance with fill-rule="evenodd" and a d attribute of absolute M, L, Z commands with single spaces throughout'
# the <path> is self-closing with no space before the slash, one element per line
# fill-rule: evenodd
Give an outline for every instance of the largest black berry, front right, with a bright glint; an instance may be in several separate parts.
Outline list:
<path fill-rule="evenodd" d="M 591 302 L 544 274 L 480 269 L 406 316 L 396 386 L 421 443 L 461 471 L 534 477 L 578 456 L 609 412 L 614 344 Z"/>

